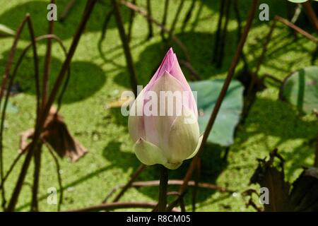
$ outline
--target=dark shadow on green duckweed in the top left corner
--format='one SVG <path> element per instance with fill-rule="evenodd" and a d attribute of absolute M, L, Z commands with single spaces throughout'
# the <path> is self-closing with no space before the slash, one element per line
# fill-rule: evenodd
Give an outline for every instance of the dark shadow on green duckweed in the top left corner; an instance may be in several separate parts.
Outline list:
<path fill-rule="evenodd" d="M 64 11 L 68 1 L 57 0 L 57 17 L 61 16 Z M 17 6 L 5 11 L 0 15 L 0 23 L 7 25 L 9 28 L 16 30 L 20 22 L 25 18 L 26 13 L 30 13 L 33 20 L 33 26 L 35 30 L 35 35 L 44 35 L 47 33 L 48 20 L 47 20 L 47 5 L 48 1 L 28 1 L 23 4 L 18 4 Z M 62 40 L 70 38 L 74 35 L 78 23 L 81 20 L 83 11 L 86 5 L 86 1 L 76 1 L 73 8 L 69 11 L 66 19 L 61 22 L 57 21 L 54 23 L 54 34 L 59 36 Z M 105 19 L 105 15 L 110 11 L 111 6 L 108 1 L 98 1 L 96 4 L 90 20 L 88 20 L 88 25 L 86 26 L 86 32 L 100 32 L 102 30 L 102 21 Z M 122 8 L 123 21 L 126 23 L 129 19 L 129 9 Z M 110 20 L 108 28 L 115 28 L 116 24 L 114 20 Z M 29 34 L 23 32 L 22 38 L 29 40 Z"/>

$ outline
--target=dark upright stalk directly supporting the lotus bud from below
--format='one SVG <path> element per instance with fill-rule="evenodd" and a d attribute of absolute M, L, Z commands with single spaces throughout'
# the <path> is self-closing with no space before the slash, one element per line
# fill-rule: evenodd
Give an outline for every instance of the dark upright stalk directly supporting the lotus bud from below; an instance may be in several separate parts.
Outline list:
<path fill-rule="evenodd" d="M 160 184 L 159 184 L 159 202 L 158 211 L 167 211 L 167 182 L 168 182 L 168 169 L 160 165 Z"/>

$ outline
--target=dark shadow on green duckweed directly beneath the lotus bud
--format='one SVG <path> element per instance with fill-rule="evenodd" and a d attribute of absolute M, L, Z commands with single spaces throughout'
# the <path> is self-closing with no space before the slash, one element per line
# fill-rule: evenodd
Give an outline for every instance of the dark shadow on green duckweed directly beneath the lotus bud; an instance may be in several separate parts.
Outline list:
<path fill-rule="evenodd" d="M 119 167 L 126 171 L 133 167 L 134 171 L 141 165 L 134 153 L 123 152 L 120 148 L 121 143 L 117 141 L 110 142 L 103 150 L 103 157 L 112 162 L 112 167 Z M 224 148 L 218 145 L 207 145 L 202 155 L 201 182 L 216 183 L 218 175 L 226 168 L 227 162 L 221 157 Z M 177 170 L 169 170 L 170 179 L 183 179 L 191 160 L 186 160 Z M 213 167 L 211 167 L 213 166 Z M 160 178 L 160 169 L 158 165 L 148 167 L 143 171 L 136 181 L 158 180 Z M 179 186 L 169 186 L 169 191 L 177 191 Z M 138 189 L 142 194 L 153 199 L 158 198 L 158 186 L 143 187 Z M 189 189 L 189 194 L 191 194 Z M 129 191 L 128 191 L 129 192 Z M 215 191 L 208 189 L 199 189 L 198 201 L 204 201 L 214 194 Z M 191 197 L 191 195 L 190 195 Z"/>

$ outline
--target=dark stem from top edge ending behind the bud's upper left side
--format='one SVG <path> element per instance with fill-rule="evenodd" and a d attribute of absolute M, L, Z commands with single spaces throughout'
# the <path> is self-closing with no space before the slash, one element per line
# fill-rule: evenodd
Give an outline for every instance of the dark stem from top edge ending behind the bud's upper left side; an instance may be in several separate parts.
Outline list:
<path fill-rule="evenodd" d="M 117 28 L 119 31 L 120 39 L 122 40 L 122 47 L 124 48 L 124 54 L 126 57 L 126 64 L 130 73 L 130 85 L 131 89 L 134 91 L 135 96 L 137 96 L 137 76 L 136 69 L 134 66 L 134 61 L 131 56 L 129 42 L 127 40 L 127 36 L 125 34 L 124 25 L 122 23 L 122 16 L 119 11 L 119 6 L 117 4 L 117 0 L 112 0 L 112 6 L 114 7 L 114 16 L 116 18 Z"/>

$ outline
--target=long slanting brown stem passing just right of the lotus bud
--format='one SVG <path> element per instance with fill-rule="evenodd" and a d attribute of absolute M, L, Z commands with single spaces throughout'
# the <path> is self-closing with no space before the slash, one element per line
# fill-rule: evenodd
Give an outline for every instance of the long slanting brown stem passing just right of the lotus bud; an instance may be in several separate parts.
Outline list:
<path fill-rule="evenodd" d="M 222 104 L 223 102 L 223 99 L 226 95 L 226 92 L 228 90 L 228 87 L 230 85 L 230 81 L 232 81 L 232 77 L 235 73 L 235 68 L 237 66 L 237 63 L 238 61 L 240 60 L 240 56 L 242 54 L 242 49 L 245 45 L 245 42 L 247 40 L 247 36 L 249 34 L 249 30 L 252 26 L 252 22 L 253 22 L 253 18 L 254 18 L 254 15 L 255 15 L 255 12 L 257 11 L 257 2 L 258 0 L 253 0 L 252 1 L 252 6 L 249 10 L 249 16 L 247 18 L 247 24 L 245 25 L 245 30 L 244 32 L 242 33 L 242 37 L 240 39 L 240 43 L 238 44 L 237 46 L 237 49 L 236 49 L 236 52 L 235 52 L 235 55 L 232 59 L 232 63 L 230 65 L 230 69 L 228 71 L 228 76 L 225 78 L 225 82 L 223 84 L 223 88 L 220 92 L 220 95 L 218 96 L 218 100 L 216 101 L 216 105 L 215 107 L 213 108 L 213 112 L 211 114 L 211 117 L 208 121 L 208 125 L 206 126 L 206 131 L 204 132 L 204 137 L 202 139 L 202 143 L 201 143 L 201 146 L 200 146 L 200 149 L 198 151 L 198 153 L 196 154 L 196 156 L 194 156 L 194 158 L 192 159 L 192 162 L 189 166 L 189 169 L 187 170 L 187 174 L 186 176 L 184 177 L 184 183 L 182 184 L 182 186 L 180 187 L 179 189 L 179 192 L 181 194 L 183 194 L 186 189 L 187 189 L 187 186 L 188 186 L 188 182 L 189 180 L 191 179 L 192 177 L 192 173 L 196 167 L 196 164 L 198 162 L 198 159 L 199 159 L 199 156 L 201 155 L 203 149 L 204 149 L 204 145 L 206 145 L 206 141 L 207 141 L 207 138 L 208 138 L 208 134 L 210 133 L 212 127 L 213 127 L 213 124 L 216 120 L 216 116 L 218 115 L 218 111 L 220 109 L 220 105 Z M 171 207 L 170 207 L 171 208 Z"/>

